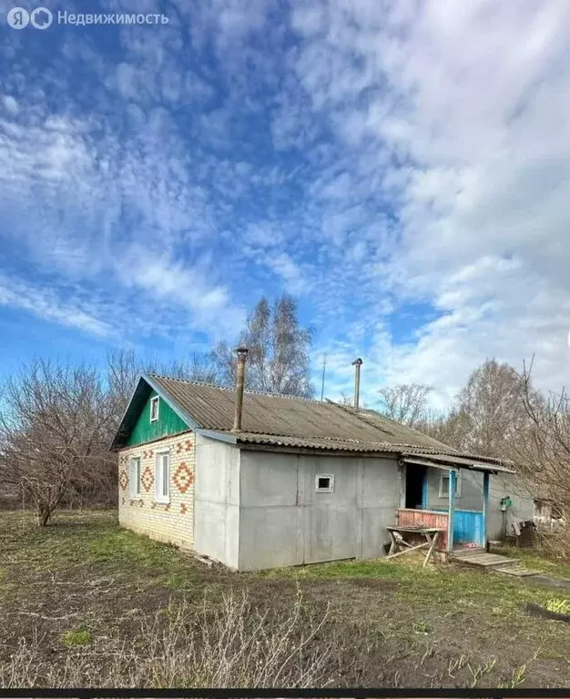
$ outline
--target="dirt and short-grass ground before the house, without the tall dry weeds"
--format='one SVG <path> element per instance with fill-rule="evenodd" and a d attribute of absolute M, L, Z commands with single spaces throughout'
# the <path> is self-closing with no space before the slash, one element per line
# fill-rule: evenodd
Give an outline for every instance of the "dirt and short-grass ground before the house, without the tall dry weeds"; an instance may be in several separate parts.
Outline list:
<path fill-rule="evenodd" d="M 550 562 L 543 570 L 568 571 Z M 322 685 L 570 686 L 570 625 L 524 612 L 527 602 L 567 599 L 564 588 L 402 559 L 238 574 L 120 530 L 114 512 L 60 513 L 46 529 L 0 512 L 0 687 L 46 685 L 54 675 L 38 667 L 63 668 L 79 656 L 83 684 L 117 684 L 105 668 L 141 622 L 156 625 L 181 604 L 209 613 L 229 594 L 246 594 L 250 615 L 269 613 L 264 623 L 299 601 L 301 625 L 324 619 L 304 646 L 314 657 L 329 649 L 312 675 Z M 214 619 L 211 633 L 219 629 Z M 15 669 L 18 649 L 31 647 L 36 670 Z M 237 682 L 247 685 L 248 676 Z M 66 673 L 57 677 L 66 683 Z M 137 681 L 158 684 L 148 677 Z"/>

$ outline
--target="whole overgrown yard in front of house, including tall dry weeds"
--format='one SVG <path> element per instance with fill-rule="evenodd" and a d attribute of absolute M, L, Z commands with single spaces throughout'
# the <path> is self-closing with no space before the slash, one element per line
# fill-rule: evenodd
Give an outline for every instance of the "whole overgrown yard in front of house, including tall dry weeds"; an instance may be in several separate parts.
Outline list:
<path fill-rule="evenodd" d="M 568 597 L 402 559 L 237 574 L 114 512 L 2 512 L 0 686 L 568 687 L 570 627 L 524 612 Z"/>

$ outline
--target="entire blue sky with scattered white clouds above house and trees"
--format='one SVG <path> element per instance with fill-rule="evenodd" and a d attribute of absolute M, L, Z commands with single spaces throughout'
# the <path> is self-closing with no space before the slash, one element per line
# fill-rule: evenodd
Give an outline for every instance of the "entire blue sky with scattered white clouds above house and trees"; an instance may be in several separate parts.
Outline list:
<path fill-rule="evenodd" d="M 371 405 L 485 357 L 568 383 L 566 0 L 43 5 L 0 0 L 0 373 L 182 358 L 286 291 L 331 398 L 356 356 Z"/>

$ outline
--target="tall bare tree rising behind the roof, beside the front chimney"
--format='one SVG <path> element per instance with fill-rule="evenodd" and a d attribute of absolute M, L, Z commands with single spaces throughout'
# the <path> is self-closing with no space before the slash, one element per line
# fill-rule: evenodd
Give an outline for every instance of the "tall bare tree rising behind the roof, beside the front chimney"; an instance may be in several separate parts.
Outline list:
<path fill-rule="evenodd" d="M 300 328 L 297 304 L 288 296 L 270 307 L 263 297 L 239 335 L 239 345 L 249 349 L 247 387 L 271 393 L 312 397 L 309 349 L 310 329 Z M 235 357 L 226 342 L 214 349 L 219 380 L 233 385 Z"/>

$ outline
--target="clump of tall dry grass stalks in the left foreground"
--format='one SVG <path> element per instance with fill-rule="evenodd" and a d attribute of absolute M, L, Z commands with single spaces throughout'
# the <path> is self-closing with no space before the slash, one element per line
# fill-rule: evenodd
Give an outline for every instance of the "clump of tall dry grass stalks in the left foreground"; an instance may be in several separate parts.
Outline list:
<path fill-rule="evenodd" d="M 166 616 L 166 622 L 165 622 Z M 54 664 L 43 639 L 22 640 L 0 664 L 0 687 L 311 687 L 331 683 L 335 642 L 326 639 L 328 610 L 302 604 L 279 613 L 253 608 L 247 594 L 198 613 L 169 606 L 125 642 L 105 640 L 69 651 Z"/>

